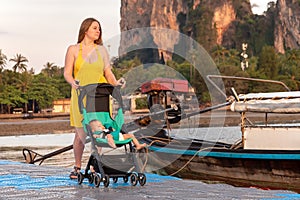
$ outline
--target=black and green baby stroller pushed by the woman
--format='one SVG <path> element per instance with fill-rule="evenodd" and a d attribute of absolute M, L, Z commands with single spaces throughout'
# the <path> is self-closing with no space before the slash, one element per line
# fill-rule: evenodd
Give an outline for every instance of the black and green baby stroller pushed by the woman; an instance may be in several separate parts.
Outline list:
<path fill-rule="evenodd" d="M 139 183 L 143 186 L 146 183 L 146 176 L 140 172 L 137 162 L 137 153 L 132 145 L 132 139 L 115 140 L 118 147 L 124 147 L 122 154 L 100 155 L 98 147 L 109 147 L 105 135 L 121 134 L 122 125 L 124 124 L 123 102 L 119 88 L 107 83 L 89 84 L 80 87 L 78 90 L 78 105 L 83 115 L 83 128 L 91 140 L 92 153 L 89 157 L 85 172 L 78 174 L 78 184 L 83 182 L 84 178 L 88 179 L 90 184 L 99 187 L 103 182 L 105 187 L 109 186 L 110 178 L 113 182 L 118 182 L 118 178 L 123 178 L 126 183 L 128 179 L 132 186 Z M 116 100 L 119 104 L 116 115 L 112 118 L 111 100 Z M 84 103 L 84 100 L 86 103 Z M 89 123 L 92 120 L 99 120 L 105 130 L 102 138 L 94 138 Z M 124 152 L 124 153 L 123 153 Z M 93 170 L 91 170 L 91 166 Z"/>

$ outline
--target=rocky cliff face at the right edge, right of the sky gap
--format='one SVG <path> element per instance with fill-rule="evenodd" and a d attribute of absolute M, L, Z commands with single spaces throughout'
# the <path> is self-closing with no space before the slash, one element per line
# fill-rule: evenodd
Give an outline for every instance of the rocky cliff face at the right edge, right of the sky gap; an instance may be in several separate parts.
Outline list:
<path fill-rule="evenodd" d="M 274 46 L 278 52 L 300 48 L 300 2 L 277 0 Z"/>

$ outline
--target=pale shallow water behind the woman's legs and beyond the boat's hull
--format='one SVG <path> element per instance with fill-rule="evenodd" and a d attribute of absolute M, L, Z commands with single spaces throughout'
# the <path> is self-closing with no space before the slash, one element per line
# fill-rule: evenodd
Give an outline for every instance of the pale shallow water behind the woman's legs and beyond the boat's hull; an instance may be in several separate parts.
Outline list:
<path fill-rule="evenodd" d="M 206 139 L 210 141 L 222 141 L 226 143 L 234 143 L 240 138 L 239 127 L 172 129 L 169 134 L 184 138 L 188 137 Z M 0 137 L 0 159 L 25 162 L 25 158 L 22 154 L 23 148 L 33 150 L 41 155 L 46 155 L 71 145 L 73 142 L 73 137 L 74 133 L 2 136 Z M 90 153 L 91 146 L 90 144 L 87 144 L 83 155 L 83 166 L 86 164 L 85 161 L 88 160 Z M 55 165 L 72 168 L 73 151 L 69 150 L 46 159 L 43 162 L 43 165 Z"/>

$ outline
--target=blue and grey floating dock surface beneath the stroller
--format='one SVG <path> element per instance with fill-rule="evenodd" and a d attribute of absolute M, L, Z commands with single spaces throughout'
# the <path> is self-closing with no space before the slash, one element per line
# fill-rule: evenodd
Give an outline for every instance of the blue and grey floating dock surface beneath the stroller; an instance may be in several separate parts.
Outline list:
<path fill-rule="evenodd" d="M 0 160 L 0 199 L 299 199 L 299 194 L 284 190 L 240 188 L 227 184 L 207 184 L 194 180 L 145 174 L 144 186 L 131 186 L 119 180 L 105 188 L 81 185 L 70 180 L 65 168 L 25 165 Z"/>

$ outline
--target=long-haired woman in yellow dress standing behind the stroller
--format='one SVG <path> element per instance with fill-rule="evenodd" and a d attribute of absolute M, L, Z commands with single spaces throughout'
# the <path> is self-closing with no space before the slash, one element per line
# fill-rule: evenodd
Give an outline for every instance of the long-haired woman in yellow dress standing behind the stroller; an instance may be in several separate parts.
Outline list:
<path fill-rule="evenodd" d="M 114 86 L 121 85 L 124 79 L 116 80 L 111 71 L 109 56 L 102 43 L 102 30 L 99 21 L 94 18 L 85 19 L 79 30 L 78 41 L 68 47 L 64 68 L 65 80 L 72 86 L 70 124 L 75 127 L 73 151 L 75 157 L 74 171 L 70 178 L 76 179 L 81 169 L 86 133 L 78 108 L 76 89 L 79 85 L 108 82 Z"/>

